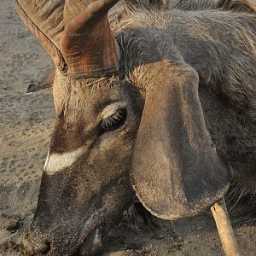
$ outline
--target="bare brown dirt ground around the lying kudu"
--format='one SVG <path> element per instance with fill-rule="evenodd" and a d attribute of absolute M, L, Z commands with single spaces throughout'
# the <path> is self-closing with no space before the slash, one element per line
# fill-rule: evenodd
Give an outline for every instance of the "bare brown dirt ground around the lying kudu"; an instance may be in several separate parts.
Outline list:
<path fill-rule="evenodd" d="M 35 212 L 40 177 L 55 123 L 50 90 L 27 94 L 52 62 L 21 24 L 13 1 L 0 0 L 0 255 L 23 255 L 22 231 Z M 224 255 L 211 214 L 153 231 L 124 218 L 106 238 L 104 255 Z M 256 255 L 256 226 L 235 227 L 242 255 Z"/>

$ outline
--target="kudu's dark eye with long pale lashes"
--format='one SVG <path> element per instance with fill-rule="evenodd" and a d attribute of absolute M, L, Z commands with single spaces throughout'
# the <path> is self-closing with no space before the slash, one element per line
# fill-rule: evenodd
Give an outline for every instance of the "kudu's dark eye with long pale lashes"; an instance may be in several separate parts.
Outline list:
<path fill-rule="evenodd" d="M 106 119 L 102 119 L 102 131 L 114 131 L 125 124 L 126 108 L 120 108 Z"/>

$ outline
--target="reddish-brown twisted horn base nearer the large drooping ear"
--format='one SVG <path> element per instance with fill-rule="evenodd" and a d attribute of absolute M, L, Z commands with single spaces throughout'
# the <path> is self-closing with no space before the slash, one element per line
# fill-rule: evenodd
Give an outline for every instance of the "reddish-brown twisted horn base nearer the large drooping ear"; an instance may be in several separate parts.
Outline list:
<path fill-rule="evenodd" d="M 72 1 L 66 1 L 64 20 L 69 21 L 61 38 L 61 53 L 67 62 L 68 75 L 94 78 L 118 72 L 119 46 L 108 21 L 108 10 L 118 2 L 119 0 L 90 2 L 75 15 L 74 9 L 69 8 Z M 73 18 L 70 19 L 70 16 Z"/>

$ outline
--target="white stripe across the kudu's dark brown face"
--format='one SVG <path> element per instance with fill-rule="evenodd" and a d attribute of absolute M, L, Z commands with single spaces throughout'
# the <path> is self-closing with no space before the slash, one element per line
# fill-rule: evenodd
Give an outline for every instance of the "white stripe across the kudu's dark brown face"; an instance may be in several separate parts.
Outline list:
<path fill-rule="evenodd" d="M 44 171 L 48 174 L 55 174 L 68 166 L 72 166 L 73 163 L 84 154 L 84 148 L 78 148 L 72 152 L 63 154 L 48 154 L 44 164 Z"/>

